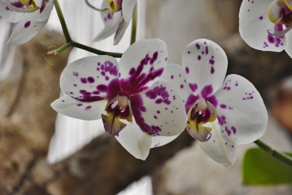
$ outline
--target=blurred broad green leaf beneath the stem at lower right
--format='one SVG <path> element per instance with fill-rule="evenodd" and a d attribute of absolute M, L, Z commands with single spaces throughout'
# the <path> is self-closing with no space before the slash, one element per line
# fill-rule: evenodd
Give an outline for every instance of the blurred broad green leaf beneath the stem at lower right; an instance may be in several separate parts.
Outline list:
<path fill-rule="evenodd" d="M 292 153 L 285 153 L 292 157 Z M 260 148 L 246 152 L 243 181 L 248 185 L 292 184 L 292 167 Z"/>

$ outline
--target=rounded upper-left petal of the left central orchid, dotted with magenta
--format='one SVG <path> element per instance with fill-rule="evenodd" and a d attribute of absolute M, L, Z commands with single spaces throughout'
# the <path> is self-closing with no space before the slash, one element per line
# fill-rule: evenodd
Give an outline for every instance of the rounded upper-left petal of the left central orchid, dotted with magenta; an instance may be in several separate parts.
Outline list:
<path fill-rule="evenodd" d="M 119 65 L 115 58 L 99 55 L 78 59 L 60 77 L 64 94 L 82 102 L 111 100 L 120 92 Z"/>

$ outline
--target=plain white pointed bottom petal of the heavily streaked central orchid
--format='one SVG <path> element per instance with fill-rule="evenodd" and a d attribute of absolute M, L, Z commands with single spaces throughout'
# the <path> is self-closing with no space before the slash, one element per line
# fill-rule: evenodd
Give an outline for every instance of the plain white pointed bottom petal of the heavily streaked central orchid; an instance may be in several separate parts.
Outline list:
<path fill-rule="evenodd" d="M 131 122 L 126 120 L 122 120 L 122 122 L 127 126 L 115 138 L 134 157 L 145 160 L 149 154 L 151 137 L 141 131 L 134 117 Z"/>

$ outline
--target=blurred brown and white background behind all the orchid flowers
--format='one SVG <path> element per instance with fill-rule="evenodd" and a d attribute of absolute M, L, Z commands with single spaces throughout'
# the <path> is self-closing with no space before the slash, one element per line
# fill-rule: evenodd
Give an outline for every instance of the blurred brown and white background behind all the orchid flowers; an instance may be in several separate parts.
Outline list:
<path fill-rule="evenodd" d="M 100 7 L 101 0 L 91 2 Z M 263 140 L 291 152 L 292 59 L 285 51 L 255 50 L 241 39 L 240 5 L 240 0 L 138 0 L 137 40 L 164 40 L 168 64 L 181 64 L 184 49 L 198 38 L 218 43 L 228 57 L 227 74 L 250 80 L 264 99 L 269 121 Z M 60 6 L 74 41 L 112 52 L 128 48 L 131 24 L 117 46 L 113 36 L 92 43 L 103 28 L 100 13 L 80 0 L 60 0 Z M 94 54 L 77 48 L 46 54 L 65 44 L 54 9 L 46 28 L 23 45 L 6 44 L 15 24 L 0 18 L 0 26 L 0 194 L 291 194 L 291 186 L 244 184 L 242 160 L 253 143 L 239 145 L 234 166 L 226 168 L 183 132 L 142 161 L 107 136 L 102 124 L 57 115 L 50 103 L 62 95 L 63 68 Z"/>

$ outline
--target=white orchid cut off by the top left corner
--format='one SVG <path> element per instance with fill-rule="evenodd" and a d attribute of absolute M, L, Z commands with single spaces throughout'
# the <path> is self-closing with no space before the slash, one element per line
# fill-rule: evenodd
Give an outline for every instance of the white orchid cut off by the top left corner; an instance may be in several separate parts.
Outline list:
<path fill-rule="evenodd" d="M 20 45 L 33 38 L 51 15 L 54 0 L 0 0 L 0 16 L 8 22 L 19 22 L 8 45 Z"/>

